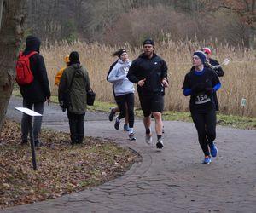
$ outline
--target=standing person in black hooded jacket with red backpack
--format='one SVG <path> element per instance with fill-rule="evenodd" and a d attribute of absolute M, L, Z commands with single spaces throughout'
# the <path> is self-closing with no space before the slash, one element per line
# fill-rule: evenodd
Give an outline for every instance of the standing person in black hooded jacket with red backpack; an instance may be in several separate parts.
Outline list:
<path fill-rule="evenodd" d="M 44 102 L 50 101 L 50 89 L 49 89 L 49 80 L 44 64 L 44 58 L 39 54 L 40 49 L 40 40 L 38 37 L 28 36 L 26 37 L 26 48 L 20 54 L 22 56 L 29 57 L 29 66 L 28 68 L 20 67 L 21 63 L 20 57 L 17 63 L 17 76 L 19 76 L 20 72 L 28 73 L 29 71 L 32 74 L 28 74 L 27 78 L 31 78 L 31 82 L 26 83 L 25 80 L 21 80 L 19 83 L 18 79 L 17 83 L 20 85 L 20 94 L 23 97 L 23 107 L 33 109 L 35 112 L 40 114 L 44 113 Z M 32 52 L 35 52 L 32 54 Z M 31 55 L 32 54 L 32 55 Z M 20 66 L 19 66 L 20 65 Z M 21 120 L 21 144 L 27 144 L 27 136 L 29 132 L 29 116 L 23 114 Z M 41 131 L 42 125 L 42 117 L 35 117 L 33 122 L 33 137 L 35 146 L 41 146 L 42 142 L 39 141 L 39 134 Z"/>

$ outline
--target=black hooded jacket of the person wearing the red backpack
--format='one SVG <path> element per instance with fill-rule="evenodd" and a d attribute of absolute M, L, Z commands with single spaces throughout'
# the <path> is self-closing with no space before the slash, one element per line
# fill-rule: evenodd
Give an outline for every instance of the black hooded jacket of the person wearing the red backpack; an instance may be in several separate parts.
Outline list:
<path fill-rule="evenodd" d="M 34 76 L 32 83 L 20 86 L 20 94 L 29 102 L 44 102 L 50 97 L 49 80 L 44 64 L 44 58 L 39 55 L 40 40 L 38 37 L 29 36 L 26 38 L 26 49 L 24 55 L 29 55 L 32 51 L 38 54 L 32 55 L 29 59 L 31 70 Z"/>

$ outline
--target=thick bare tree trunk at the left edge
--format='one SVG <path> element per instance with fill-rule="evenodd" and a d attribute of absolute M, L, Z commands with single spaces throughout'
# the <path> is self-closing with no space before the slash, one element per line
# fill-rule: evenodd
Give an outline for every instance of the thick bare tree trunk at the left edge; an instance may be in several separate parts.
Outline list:
<path fill-rule="evenodd" d="M 15 82 L 15 61 L 25 20 L 26 0 L 0 0 L 0 133 Z"/>

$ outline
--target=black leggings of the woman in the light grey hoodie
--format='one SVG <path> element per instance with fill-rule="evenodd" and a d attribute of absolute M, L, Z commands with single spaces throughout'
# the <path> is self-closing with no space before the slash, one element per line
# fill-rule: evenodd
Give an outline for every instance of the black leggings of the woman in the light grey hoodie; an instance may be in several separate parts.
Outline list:
<path fill-rule="evenodd" d="M 125 118 L 126 104 L 128 109 L 129 127 L 133 128 L 134 125 L 134 94 L 129 93 L 125 95 L 115 96 L 115 101 L 119 107 L 119 120 Z"/>

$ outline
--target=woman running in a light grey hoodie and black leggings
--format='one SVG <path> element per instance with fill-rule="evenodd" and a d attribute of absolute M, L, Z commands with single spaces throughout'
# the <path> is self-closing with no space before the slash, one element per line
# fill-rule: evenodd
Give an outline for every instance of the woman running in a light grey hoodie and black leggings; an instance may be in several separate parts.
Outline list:
<path fill-rule="evenodd" d="M 114 52 L 113 55 L 117 55 L 119 60 L 109 73 L 108 81 L 113 83 L 113 91 L 120 110 L 119 116 L 115 120 L 114 128 L 119 130 L 120 120 L 125 118 L 125 105 L 127 105 L 129 114 L 129 139 L 131 141 L 135 141 L 136 138 L 133 133 L 134 86 L 133 83 L 131 83 L 126 77 L 131 66 L 131 60 L 128 59 L 127 51 L 125 49 L 119 49 L 118 51 Z"/>

